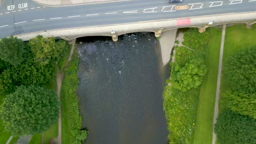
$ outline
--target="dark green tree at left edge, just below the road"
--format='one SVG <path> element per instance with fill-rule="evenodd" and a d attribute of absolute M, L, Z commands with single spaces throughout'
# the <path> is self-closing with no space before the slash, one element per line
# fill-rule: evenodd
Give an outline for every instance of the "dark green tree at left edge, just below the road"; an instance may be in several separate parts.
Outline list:
<path fill-rule="evenodd" d="M 19 65 L 26 59 L 26 44 L 11 36 L 0 40 L 0 58 L 12 65 Z"/>

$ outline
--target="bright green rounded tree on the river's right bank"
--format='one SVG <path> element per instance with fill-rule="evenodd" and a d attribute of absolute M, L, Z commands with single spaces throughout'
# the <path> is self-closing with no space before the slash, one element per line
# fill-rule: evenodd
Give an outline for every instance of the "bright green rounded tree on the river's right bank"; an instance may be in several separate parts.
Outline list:
<path fill-rule="evenodd" d="M 203 64 L 203 59 L 201 58 L 189 61 L 183 68 L 178 64 L 174 64 L 172 83 L 181 91 L 196 88 L 201 85 L 202 78 L 205 76 L 206 71 L 206 66 Z"/>

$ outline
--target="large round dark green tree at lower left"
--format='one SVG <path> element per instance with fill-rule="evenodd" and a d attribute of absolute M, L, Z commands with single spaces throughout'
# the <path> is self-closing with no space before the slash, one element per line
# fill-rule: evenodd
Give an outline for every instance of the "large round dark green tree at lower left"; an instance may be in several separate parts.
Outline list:
<path fill-rule="evenodd" d="M 59 117 L 58 98 L 46 88 L 20 86 L 4 99 L 0 117 L 13 135 L 42 133 Z"/>

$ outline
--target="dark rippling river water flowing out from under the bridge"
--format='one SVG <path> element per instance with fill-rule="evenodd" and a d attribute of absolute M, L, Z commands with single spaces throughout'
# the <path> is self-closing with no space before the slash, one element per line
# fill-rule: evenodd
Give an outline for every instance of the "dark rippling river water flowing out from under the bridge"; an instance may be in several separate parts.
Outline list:
<path fill-rule="evenodd" d="M 87 144 L 166 144 L 166 75 L 153 33 L 78 39 L 78 95 Z M 82 43 L 82 44 L 81 44 Z"/>

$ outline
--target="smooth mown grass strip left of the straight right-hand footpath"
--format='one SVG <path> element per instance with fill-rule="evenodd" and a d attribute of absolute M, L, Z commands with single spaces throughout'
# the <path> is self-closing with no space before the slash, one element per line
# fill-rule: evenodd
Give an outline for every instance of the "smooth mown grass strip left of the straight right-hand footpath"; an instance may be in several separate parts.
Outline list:
<path fill-rule="evenodd" d="M 194 143 L 212 143 L 212 123 L 216 97 L 219 51 L 222 39 L 221 28 L 207 29 L 211 33 L 205 54 L 207 74 L 200 89 L 199 105 L 197 107 Z"/>

